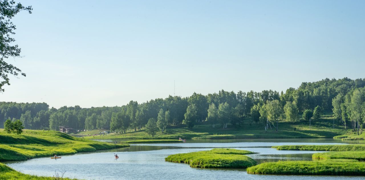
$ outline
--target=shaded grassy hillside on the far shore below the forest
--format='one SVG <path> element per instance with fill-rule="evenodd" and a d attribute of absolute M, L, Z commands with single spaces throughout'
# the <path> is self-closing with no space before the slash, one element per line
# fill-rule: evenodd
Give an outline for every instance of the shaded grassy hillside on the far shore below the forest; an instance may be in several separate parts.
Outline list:
<path fill-rule="evenodd" d="M 201 139 L 235 139 L 235 138 L 333 138 L 337 135 L 345 134 L 343 127 L 335 122 L 333 129 L 333 120 L 328 116 L 320 120 L 312 120 L 311 129 L 309 122 L 301 121 L 296 123 L 281 122 L 279 123 L 278 131 L 272 126 L 272 130 L 265 132 L 262 123 L 255 124 L 247 120 L 241 128 L 231 128 L 228 125 L 227 129 L 223 129 L 216 125 L 212 128 L 209 123 L 196 125 L 192 129 L 187 127 L 171 126 L 166 129 L 165 133 L 158 132 L 157 135 L 151 137 L 145 130 L 132 131 L 125 134 L 108 134 L 106 136 L 89 136 L 89 139 L 184 139 L 201 138 Z M 276 126 L 276 124 L 275 124 Z M 294 130 L 296 128 L 296 130 Z M 87 132 L 87 131 L 86 131 Z"/>

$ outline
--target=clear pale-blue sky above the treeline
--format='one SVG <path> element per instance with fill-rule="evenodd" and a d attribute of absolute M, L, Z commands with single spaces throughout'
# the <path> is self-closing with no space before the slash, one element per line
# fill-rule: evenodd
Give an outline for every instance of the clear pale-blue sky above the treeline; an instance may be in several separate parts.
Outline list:
<path fill-rule="evenodd" d="M 18 2 L 19 0 L 17 0 Z M 0 101 L 121 106 L 364 78 L 365 1 L 21 0 Z"/>

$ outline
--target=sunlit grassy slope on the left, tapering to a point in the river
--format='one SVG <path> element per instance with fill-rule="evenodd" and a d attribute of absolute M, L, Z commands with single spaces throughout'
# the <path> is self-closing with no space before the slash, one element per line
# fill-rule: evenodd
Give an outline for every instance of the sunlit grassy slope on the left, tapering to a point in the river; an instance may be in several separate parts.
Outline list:
<path fill-rule="evenodd" d="M 54 154 L 75 154 L 126 146 L 129 145 L 76 138 L 58 131 L 24 130 L 23 134 L 16 135 L 0 129 L 0 161 L 27 160 Z"/>

